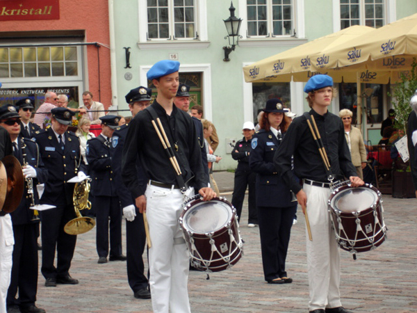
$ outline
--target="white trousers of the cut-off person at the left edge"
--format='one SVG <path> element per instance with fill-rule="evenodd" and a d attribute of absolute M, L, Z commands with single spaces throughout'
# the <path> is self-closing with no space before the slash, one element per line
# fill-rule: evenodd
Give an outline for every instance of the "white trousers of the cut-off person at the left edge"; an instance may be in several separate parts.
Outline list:
<path fill-rule="evenodd" d="M 10 214 L 0 216 L 0 313 L 7 313 L 6 296 L 12 275 L 13 236 Z"/>

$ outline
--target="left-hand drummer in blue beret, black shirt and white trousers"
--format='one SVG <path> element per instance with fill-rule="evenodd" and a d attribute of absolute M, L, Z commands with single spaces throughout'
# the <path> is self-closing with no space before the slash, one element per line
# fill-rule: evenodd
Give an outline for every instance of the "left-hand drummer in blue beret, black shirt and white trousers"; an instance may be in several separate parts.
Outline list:
<path fill-rule="evenodd" d="M 154 83 L 158 95 L 149 108 L 139 112 L 131 121 L 122 159 L 124 183 L 136 198 L 136 207 L 141 213 L 146 210 L 149 220 L 152 241 L 149 284 L 155 313 L 190 312 L 187 289 L 190 259 L 178 218 L 183 200 L 194 194 L 194 188 L 188 184 L 196 186 L 204 200 L 215 197 L 213 190 L 206 187 L 208 182 L 193 120 L 173 104 L 179 86 L 178 71 L 178 61 L 165 60 L 147 72 L 147 78 Z M 181 175 L 174 171 L 156 134 L 151 122 L 154 120 L 152 114 L 161 120 Z M 146 177 L 150 179 L 145 194 L 137 178 L 138 157 Z M 186 183 L 185 188 L 181 188 L 181 180 Z"/>

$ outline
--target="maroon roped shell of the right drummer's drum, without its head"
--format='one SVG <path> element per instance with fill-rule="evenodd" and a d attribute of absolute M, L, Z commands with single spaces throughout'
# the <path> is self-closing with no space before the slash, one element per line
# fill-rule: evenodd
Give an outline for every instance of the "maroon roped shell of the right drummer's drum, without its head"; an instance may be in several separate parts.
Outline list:
<path fill-rule="evenodd" d="M 386 226 L 382 214 L 380 193 L 371 185 L 366 184 L 363 187 L 375 193 L 377 201 L 368 209 L 359 212 L 343 212 L 332 206 L 332 200 L 338 193 L 352 188 L 347 184 L 337 188 L 336 192 L 332 193 L 329 198 L 329 213 L 332 218 L 336 241 L 341 249 L 350 252 L 373 250 L 385 241 Z M 361 231 L 358 230 L 358 224 Z"/>

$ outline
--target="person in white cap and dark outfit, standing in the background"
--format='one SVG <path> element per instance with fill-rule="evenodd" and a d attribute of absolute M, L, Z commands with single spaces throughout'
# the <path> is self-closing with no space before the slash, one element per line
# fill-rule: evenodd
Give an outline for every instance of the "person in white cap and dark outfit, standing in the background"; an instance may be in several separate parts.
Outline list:
<path fill-rule="evenodd" d="M 247 219 L 248 227 L 255 227 L 258 225 L 258 214 L 256 214 L 255 201 L 255 179 L 256 173 L 249 167 L 250 150 L 252 150 L 252 136 L 255 133 L 255 126 L 252 122 L 245 122 L 243 124 L 243 139 L 238 141 L 231 152 L 231 157 L 237 160 L 238 168 L 236 168 L 234 177 L 234 190 L 231 204 L 236 208 L 238 220 L 240 223 L 240 216 L 242 214 L 243 200 L 245 199 L 246 187 L 249 188 L 248 197 L 248 211 Z"/>

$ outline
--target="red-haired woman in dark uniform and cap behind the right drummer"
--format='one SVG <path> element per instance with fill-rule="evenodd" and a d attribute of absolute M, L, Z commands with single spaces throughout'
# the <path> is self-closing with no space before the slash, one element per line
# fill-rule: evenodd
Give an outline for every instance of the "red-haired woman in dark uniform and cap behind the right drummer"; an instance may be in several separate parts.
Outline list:
<path fill-rule="evenodd" d="M 256 172 L 263 274 L 269 284 L 285 284 L 293 282 L 287 276 L 285 260 L 297 202 L 292 201 L 290 189 L 277 175 L 273 159 L 290 121 L 279 99 L 269 99 L 263 112 L 249 159 L 250 168 Z"/>

